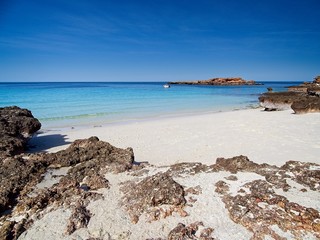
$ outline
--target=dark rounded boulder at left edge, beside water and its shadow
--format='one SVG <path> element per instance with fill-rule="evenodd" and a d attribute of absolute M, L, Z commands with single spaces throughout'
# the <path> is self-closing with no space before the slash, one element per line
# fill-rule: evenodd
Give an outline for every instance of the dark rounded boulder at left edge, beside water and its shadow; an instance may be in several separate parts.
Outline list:
<path fill-rule="evenodd" d="M 23 152 L 27 138 L 40 127 L 41 123 L 27 109 L 0 108 L 0 158 Z"/>

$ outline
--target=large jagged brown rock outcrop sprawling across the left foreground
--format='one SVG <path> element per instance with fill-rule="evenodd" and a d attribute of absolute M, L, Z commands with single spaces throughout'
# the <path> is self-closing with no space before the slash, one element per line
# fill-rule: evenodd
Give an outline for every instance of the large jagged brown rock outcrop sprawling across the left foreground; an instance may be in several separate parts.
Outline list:
<path fill-rule="evenodd" d="M 1 214 L 8 211 L 13 211 L 11 214 L 28 212 L 24 218 L 24 225 L 27 226 L 31 216 L 41 217 L 41 211 L 49 206 L 53 209 L 59 206 L 71 207 L 74 202 L 81 201 L 85 203 L 81 205 L 83 210 L 91 200 L 102 197 L 101 194 L 90 190 L 109 187 L 108 180 L 104 178 L 106 172 L 127 171 L 131 169 L 133 161 L 132 149 L 116 148 L 109 143 L 99 141 L 97 137 L 77 140 L 66 150 L 57 153 L 6 158 L 0 162 L 0 174 L 3 176 L 0 179 Z M 60 179 L 59 183 L 32 193 L 48 168 L 62 166 L 72 168 L 66 176 Z M 75 214 L 78 213 L 77 210 Z M 10 217 L 11 214 L 4 214 L 0 220 Z M 86 219 L 83 221 L 88 221 Z M 70 222 L 68 233 L 83 226 L 82 222 L 75 220 L 70 220 Z M 14 230 L 16 227 L 17 224 L 11 229 L 7 227 L 6 229 L 9 229 L 7 235 L 16 238 L 17 233 Z"/>

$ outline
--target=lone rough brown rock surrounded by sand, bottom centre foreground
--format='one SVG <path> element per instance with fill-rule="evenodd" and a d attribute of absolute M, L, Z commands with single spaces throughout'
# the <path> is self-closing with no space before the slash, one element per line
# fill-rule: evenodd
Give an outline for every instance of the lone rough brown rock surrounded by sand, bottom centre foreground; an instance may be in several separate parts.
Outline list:
<path fill-rule="evenodd" d="M 124 193 L 121 204 L 133 223 L 138 222 L 140 215 L 145 212 L 149 213 L 151 220 L 157 220 L 181 210 L 186 203 L 183 187 L 165 173 L 146 177 L 139 183 L 127 182 L 121 191 Z M 171 208 L 157 208 L 161 205 L 170 205 Z"/>

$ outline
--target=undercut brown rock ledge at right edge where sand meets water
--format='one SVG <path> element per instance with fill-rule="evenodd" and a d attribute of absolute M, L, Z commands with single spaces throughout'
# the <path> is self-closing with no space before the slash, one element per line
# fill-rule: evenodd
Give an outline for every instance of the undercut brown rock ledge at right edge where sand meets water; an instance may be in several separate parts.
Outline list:
<path fill-rule="evenodd" d="M 259 101 L 266 111 L 292 108 L 297 114 L 320 112 L 320 76 L 313 82 L 288 87 L 287 92 L 266 92 Z"/>

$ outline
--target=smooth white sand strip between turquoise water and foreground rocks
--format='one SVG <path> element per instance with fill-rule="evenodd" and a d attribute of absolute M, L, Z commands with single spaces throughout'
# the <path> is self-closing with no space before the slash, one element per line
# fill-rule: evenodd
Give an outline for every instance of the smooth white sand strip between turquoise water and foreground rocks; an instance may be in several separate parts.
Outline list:
<path fill-rule="evenodd" d="M 96 127 L 57 129 L 39 133 L 31 152 L 56 152 L 76 139 L 97 136 L 119 148 L 132 147 L 137 162 L 170 165 L 212 164 L 218 157 L 248 156 L 257 163 L 280 166 L 289 160 L 320 163 L 319 113 L 262 108 L 189 116 L 133 120 Z"/>

